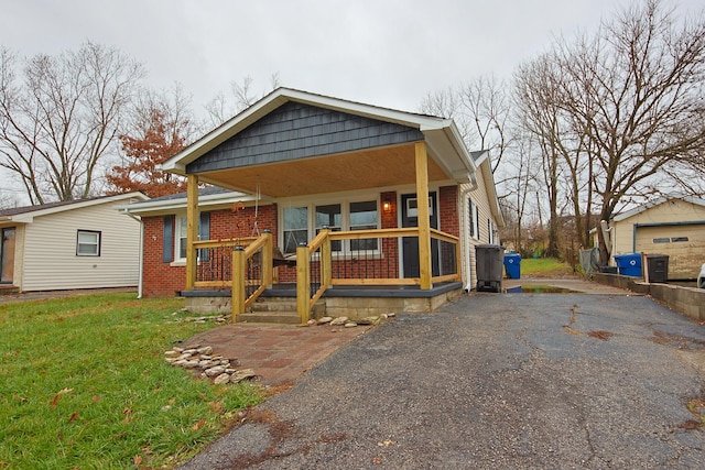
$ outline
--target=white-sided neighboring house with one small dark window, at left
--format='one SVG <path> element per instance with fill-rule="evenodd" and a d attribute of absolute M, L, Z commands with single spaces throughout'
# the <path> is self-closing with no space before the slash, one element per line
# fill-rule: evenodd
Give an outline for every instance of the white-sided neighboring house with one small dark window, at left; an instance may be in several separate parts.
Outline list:
<path fill-rule="evenodd" d="M 0 287 L 20 292 L 137 286 L 140 222 L 117 207 L 142 193 L 0 209 Z"/>

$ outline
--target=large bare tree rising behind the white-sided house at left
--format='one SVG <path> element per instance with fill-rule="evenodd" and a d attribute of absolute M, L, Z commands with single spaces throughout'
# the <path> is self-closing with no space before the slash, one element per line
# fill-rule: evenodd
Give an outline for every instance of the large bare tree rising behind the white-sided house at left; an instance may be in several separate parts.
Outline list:
<path fill-rule="evenodd" d="M 85 198 L 112 147 L 143 68 L 116 48 L 90 42 L 25 62 L 0 51 L 0 166 L 32 204 Z"/>

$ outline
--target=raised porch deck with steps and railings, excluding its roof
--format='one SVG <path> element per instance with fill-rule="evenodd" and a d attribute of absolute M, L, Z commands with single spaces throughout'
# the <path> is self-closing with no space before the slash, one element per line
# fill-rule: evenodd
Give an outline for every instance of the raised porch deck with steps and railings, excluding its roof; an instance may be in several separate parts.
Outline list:
<path fill-rule="evenodd" d="M 289 313 L 294 310 L 296 323 L 305 324 L 324 315 L 360 319 L 432 311 L 460 295 L 457 238 L 431 230 L 430 245 L 437 249 L 440 263 L 435 270 L 429 267 L 436 275 L 430 277 L 427 288 L 422 287 L 421 276 L 399 276 L 398 253 L 404 238 L 417 239 L 419 230 L 324 229 L 312 242 L 297 247 L 295 260 L 281 258 L 270 232 L 258 238 L 196 241 L 194 287 L 182 296 L 194 311 L 230 310 L 234 323 L 265 321 L 268 315 L 272 321 L 293 323 Z M 335 253 L 332 247 L 346 240 L 367 240 L 382 250 Z M 279 270 L 286 265 L 295 269 L 293 282 L 280 282 Z"/>

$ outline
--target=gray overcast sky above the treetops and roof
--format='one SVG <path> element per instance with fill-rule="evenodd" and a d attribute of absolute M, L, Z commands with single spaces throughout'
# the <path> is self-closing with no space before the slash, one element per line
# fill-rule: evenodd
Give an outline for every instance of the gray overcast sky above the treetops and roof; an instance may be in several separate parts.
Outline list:
<path fill-rule="evenodd" d="M 414 111 L 429 91 L 509 77 L 553 35 L 594 31 L 628 0 L 0 0 L 0 44 L 23 56 L 86 40 L 180 83 L 194 110 L 231 81 L 282 85 Z M 680 13 L 702 0 L 681 0 Z"/>

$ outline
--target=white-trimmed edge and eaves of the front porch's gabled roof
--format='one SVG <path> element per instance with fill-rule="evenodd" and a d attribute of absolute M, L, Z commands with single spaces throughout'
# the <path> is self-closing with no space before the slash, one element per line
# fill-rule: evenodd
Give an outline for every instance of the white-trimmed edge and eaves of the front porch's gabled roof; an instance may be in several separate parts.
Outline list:
<path fill-rule="evenodd" d="M 452 176 L 467 179 L 468 173 L 475 172 L 475 162 L 465 147 L 460 133 L 451 119 L 392 110 L 356 101 L 311 94 L 291 88 L 278 88 L 251 107 L 247 108 L 223 125 L 214 129 L 192 145 L 174 155 L 161 167 L 166 172 L 186 174 L 186 165 L 196 161 L 210 150 L 225 143 L 249 125 L 262 119 L 286 102 L 296 101 L 304 105 L 356 114 L 386 122 L 392 122 L 420 130 L 431 152 L 441 160 L 446 168 L 455 168 Z M 453 162 L 451 162 L 453 160 Z M 463 163 L 458 168 L 457 162 Z M 463 174 L 460 174 L 463 173 Z"/>

